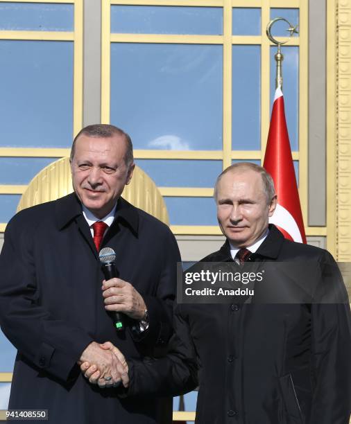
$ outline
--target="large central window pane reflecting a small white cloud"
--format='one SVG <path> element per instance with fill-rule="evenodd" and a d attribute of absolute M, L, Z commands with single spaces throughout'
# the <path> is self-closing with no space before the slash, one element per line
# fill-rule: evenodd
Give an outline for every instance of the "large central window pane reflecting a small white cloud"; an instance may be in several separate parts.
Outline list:
<path fill-rule="evenodd" d="M 110 122 L 135 149 L 222 149 L 223 48 L 111 45 Z"/>

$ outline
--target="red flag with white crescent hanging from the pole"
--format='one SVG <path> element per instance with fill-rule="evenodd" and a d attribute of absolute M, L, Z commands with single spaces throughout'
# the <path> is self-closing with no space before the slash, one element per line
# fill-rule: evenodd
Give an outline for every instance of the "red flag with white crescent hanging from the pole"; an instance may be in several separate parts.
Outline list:
<path fill-rule="evenodd" d="M 273 177 L 277 193 L 277 209 L 269 222 L 275 224 L 285 238 L 306 243 L 305 227 L 302 220 L 298 184 L 296 184 L 293 157 L 286 127 L 284 97 L 278 87 L 272 109 L 264 168 Z"/>

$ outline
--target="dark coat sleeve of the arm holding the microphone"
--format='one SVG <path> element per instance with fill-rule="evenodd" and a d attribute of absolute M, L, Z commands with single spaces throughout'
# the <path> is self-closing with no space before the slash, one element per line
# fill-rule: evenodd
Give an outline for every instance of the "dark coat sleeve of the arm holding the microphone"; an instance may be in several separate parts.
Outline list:
<path fill-rule="evenodd" d="M 148 346 L 165 345 L 173 333 L 172 310 L 176 297 L 177 263 L 180 253 L 176 238 L 169 229 L 163 241 L 162 258 L 160 258 L 160 278 L 155 295 L 144 294 L 143 299 L 148 310 L 148 330 L 140 333 L 133 331 L 135 342 Z"/>

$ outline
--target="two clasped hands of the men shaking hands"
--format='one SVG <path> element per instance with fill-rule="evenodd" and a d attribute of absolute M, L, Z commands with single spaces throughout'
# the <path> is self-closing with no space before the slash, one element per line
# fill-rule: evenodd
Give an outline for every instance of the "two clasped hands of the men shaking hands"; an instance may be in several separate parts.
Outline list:
<path fill-rule="evenodd" d="M 129 385 L 128 364 L 121 351 L 111 342 L 90 343 L 78 361 L 85 378 L 101 389 Z"/>

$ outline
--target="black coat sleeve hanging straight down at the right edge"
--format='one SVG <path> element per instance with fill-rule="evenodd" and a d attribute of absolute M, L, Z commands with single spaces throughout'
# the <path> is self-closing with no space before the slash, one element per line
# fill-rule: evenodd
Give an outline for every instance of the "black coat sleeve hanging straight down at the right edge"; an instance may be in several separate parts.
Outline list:
<path fill-rule="evenodd" d="M 328 254 L 322 267 L 323 285 L 329 283 L 332 288 L 323 288 L 325 299 L 311 306 L 314 397 L 308 423 L 348 424 L 351 412 L 350 304 L 332 256 Z"/>

